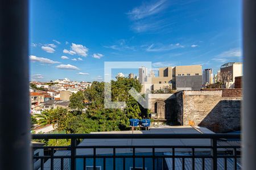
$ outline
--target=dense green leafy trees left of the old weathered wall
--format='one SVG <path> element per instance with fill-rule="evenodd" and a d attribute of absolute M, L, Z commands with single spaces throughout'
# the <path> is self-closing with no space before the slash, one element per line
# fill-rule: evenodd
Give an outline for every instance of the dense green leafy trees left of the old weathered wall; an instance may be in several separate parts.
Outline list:
<path fill-rule="evenodd" d="M 49 109 L 35 116 L 39 125 L 56 125 L 65 133 L 90 133 L 92 131 L 112 131 L 129 129 L 130 118 L 147 118 L 148 110 L 129 94 L 130 88 L 141 91 L 141 83 L 136 79 L 118 78 L 112 80 L 112 101 L 125 101 L 123 109 L 104 108 L 104 82 L 93 82 L 85 91 L 72 94 L 69 110 Z M 48 145 L 56 142 L 48 141 Z M 58 143 L 58 145 L 59 145 Z"/>

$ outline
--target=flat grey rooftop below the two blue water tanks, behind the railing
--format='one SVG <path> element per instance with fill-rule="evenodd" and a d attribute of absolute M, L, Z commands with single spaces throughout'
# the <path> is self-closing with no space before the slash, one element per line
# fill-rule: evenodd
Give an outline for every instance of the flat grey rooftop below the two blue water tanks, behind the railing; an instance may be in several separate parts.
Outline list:
<path fill-rule="evenodd" d="M 154 139 L 154 134 L 200 134 L 199 129 L 203 133 L 214 134 L 207 128 L 192 126 L 161 126 L 159 128 L 150 128 L 150 130 L 134 130 L 134 131 L 104 131 L 93 132 L 91 134 L 152 134 L 152 139 L 84 139 L 79 146 L 209 146 L 210 139 Z M 170 150 L 170 149 L 169 149 Z M 185 149 L 186 150 L 186 149 Z M 180 151 L 185 151 L 180 149 Z M 77 149 L 77 155 L 93 154 L 91 148 Z M 97 154 L 111 154 L 112 149 L 99 148 Z M 136 152 L 151 152 L 150 148 L 138 148 Z M 166 148 L 158 148 L 156 152 L 166 152 Z M 116 153 L 132 152 L 130 148 L 119 148 Z"/>

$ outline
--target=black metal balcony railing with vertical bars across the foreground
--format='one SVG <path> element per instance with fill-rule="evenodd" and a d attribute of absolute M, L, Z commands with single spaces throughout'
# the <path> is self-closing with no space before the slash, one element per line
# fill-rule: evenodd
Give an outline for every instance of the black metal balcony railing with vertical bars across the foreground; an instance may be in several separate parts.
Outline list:
<path fill-rule="evenodd" d="M 36 146 L 33 150 L 43 150 L 45 154 L 34 155 L 39 167 L 34 169 L 241 169 L 240 134 L 33 134 L 32 139 L 70 139 L 70 146 Z M 79 145 L 77 141 L 90 141 L 89 145 Z M 97 140 L 96 140 L 97 139 Z M 111 145 L 104 139 L 144 139 L 145 145 Z M 174 139 L 205 140 L 207 145 L 148 145 L 147 140 L 164 139 L 169 143 Z M 199 142 L 200 143 L 200 142 Z M 92 152 L 85 152 L 90 150 Z M 97 150 L 108 150 L 97 153 Z M 118 151 L 122 150 L 122 151 Z M 137 150 L 140 150 L 137 152 Z M 48 151 L 48 152 L 47 152 Z M 111 163 L 110 160 L 111 159 Z M 148 159 L 151 161 L 148 163 Z M 79 161 L 78 161 L 79 160 Z M 141 167 L 138 168 L 138 161 Z M 90 162 L 90 166 L 89 165 Z M 147 163 L 146 163 L 147 162 Z M 111 165 L 109 165 L 111 164 Z M 101 167 L 101 168 L 99 168 Z"/>

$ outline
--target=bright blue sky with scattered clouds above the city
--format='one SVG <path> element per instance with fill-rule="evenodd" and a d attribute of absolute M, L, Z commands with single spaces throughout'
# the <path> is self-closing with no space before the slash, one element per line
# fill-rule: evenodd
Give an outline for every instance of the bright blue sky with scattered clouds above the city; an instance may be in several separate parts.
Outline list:
<path fill-rule="evenodd" d="M 30 1 L 31 80 L 102 80 L 105 61 L 216 73 L 242 61 L 241 10 L 241 0 Z"/>

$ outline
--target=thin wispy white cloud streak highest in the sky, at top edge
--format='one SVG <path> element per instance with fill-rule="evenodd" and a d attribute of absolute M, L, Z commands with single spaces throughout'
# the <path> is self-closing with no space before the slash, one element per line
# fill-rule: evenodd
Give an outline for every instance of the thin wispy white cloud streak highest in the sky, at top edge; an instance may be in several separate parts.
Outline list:
<path fill-rule="evenodd" d="M 161 0 L 155 3 L 143 4 L 139 7 L 133 8 L 133 10 L 129 11 L 127 15 L 129 15 L 129 18 L 132 20 L 139 20 L 154 14 L 158 14 L 160 11 L 167 7 L 165 2 L 167 1 Z"/>

